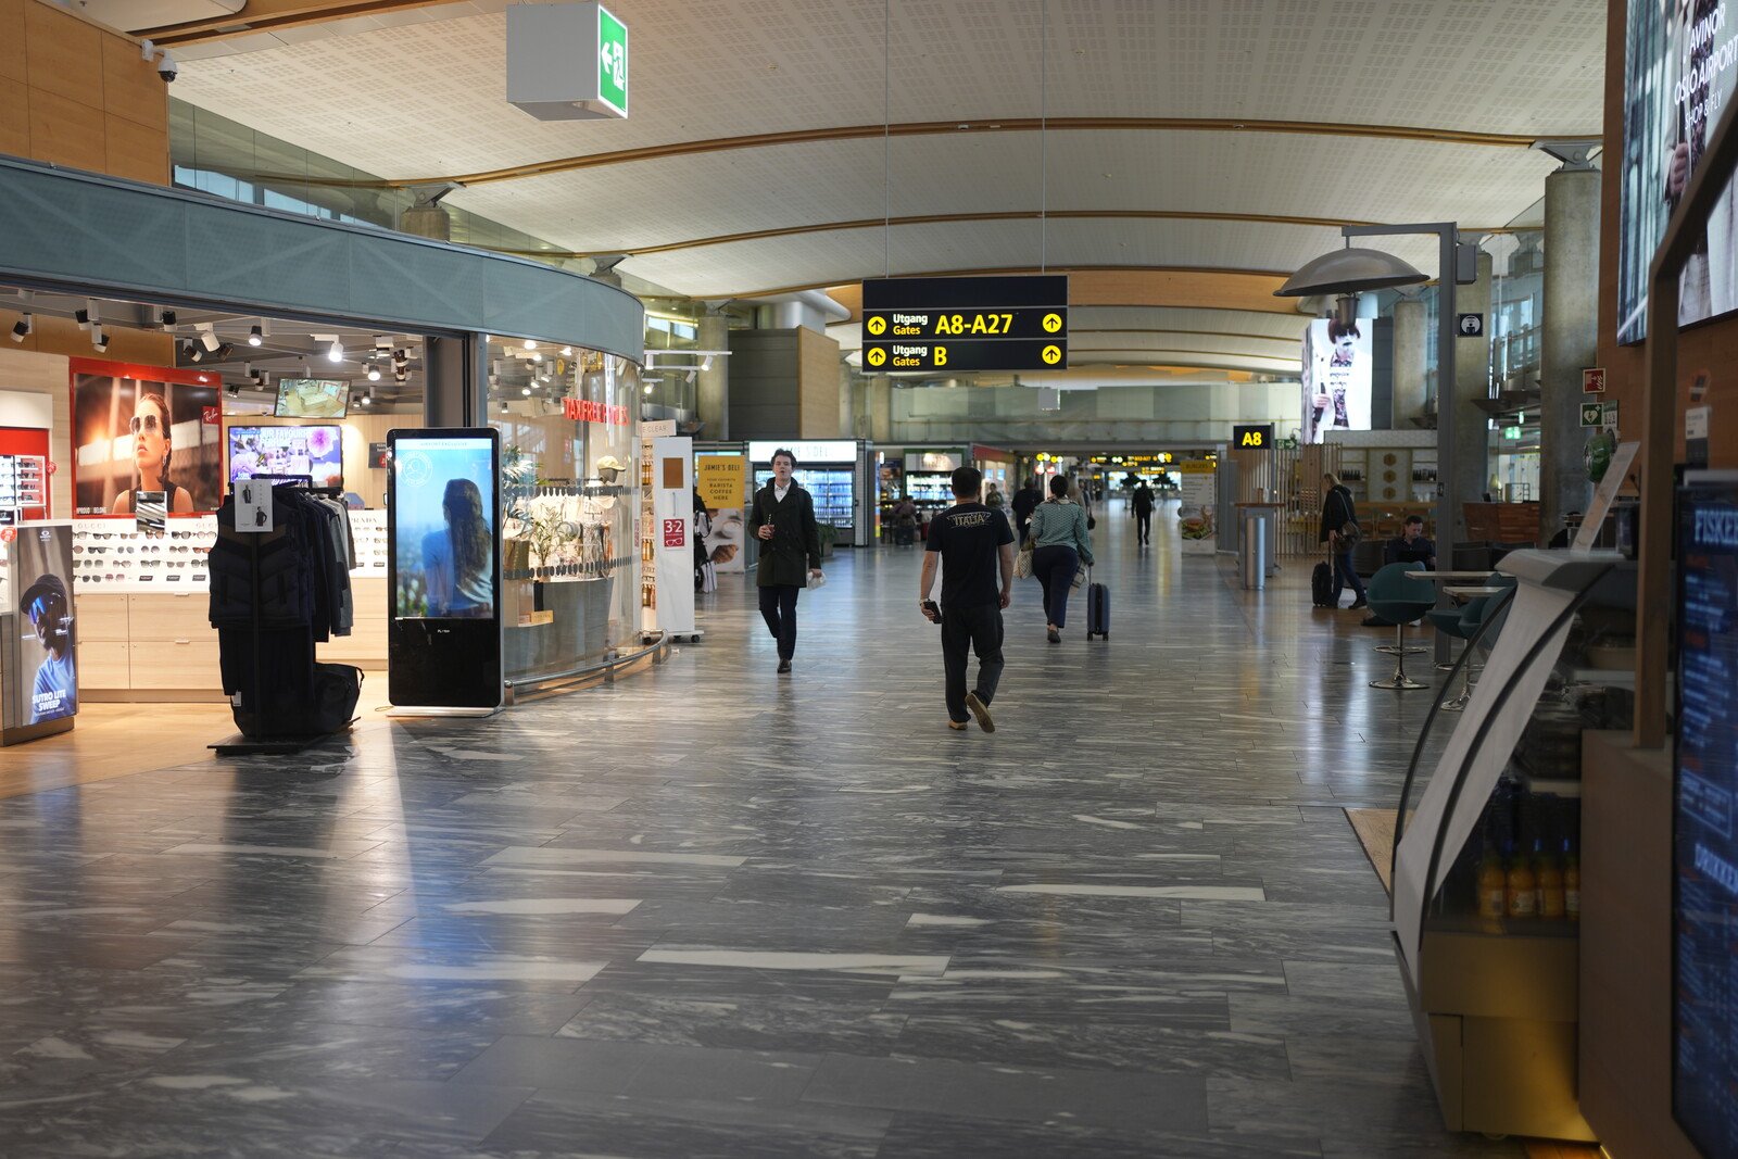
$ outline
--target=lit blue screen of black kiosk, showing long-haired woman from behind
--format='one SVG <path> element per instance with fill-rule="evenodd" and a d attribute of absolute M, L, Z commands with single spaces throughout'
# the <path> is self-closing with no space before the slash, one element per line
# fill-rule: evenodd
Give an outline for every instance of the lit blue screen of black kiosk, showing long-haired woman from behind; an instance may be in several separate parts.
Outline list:
<path fill-rule="evenodd" d="M 495 448 L 480 436 L 398 434 L 388 520 L 398 619 L 495 619 Z"/>

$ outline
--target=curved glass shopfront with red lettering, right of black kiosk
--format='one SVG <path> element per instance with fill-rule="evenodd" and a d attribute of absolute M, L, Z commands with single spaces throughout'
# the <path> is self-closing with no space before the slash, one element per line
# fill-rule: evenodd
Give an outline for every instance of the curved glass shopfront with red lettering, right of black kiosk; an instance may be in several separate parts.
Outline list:
<path fill-rule="evenodd" d="M 502 447 L 507 681 L 574 676 L 640 636 L 640 367 L 577 344 L 488 339 Z"/>

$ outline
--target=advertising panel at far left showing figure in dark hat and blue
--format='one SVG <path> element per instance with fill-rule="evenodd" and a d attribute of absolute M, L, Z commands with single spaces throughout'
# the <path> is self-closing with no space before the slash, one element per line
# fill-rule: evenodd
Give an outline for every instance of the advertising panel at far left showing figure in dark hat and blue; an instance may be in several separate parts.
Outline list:
<path fill-rule="evenodd" d="M 73 622 L 73 528 L 17 528 L 19 679 L 14 719 L 57 721 L 78 711 L 78 652 Z"/>

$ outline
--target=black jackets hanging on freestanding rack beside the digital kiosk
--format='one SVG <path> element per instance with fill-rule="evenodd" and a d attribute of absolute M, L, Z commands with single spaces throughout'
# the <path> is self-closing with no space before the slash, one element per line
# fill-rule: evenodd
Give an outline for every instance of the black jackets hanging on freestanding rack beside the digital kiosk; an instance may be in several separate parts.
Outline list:
<path fill-rule="evenodd" d="M 217 509 L 210 551 L 210 622 L 224 693 L 247 737 L 334 732 L 334 695 L 348 723 L 360 674 L 316 664 L 315 643 L 348 634 L 349 528 L 342 507 L 308 488 L 271 488 L 271 530 L 235 527 L 235 495 Z M 236 693 L 240 699 L 236 700 Z"/>

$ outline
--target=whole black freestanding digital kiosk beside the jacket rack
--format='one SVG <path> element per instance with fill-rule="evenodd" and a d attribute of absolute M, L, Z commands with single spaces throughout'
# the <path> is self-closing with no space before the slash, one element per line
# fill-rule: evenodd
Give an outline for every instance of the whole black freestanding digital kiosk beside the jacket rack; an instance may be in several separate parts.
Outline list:
<path fill-rule="evenodd" d="M 501 671 L 501 438 L 388 431 L 388 700 L 494 712 Z"/>

